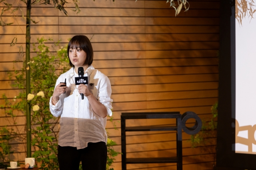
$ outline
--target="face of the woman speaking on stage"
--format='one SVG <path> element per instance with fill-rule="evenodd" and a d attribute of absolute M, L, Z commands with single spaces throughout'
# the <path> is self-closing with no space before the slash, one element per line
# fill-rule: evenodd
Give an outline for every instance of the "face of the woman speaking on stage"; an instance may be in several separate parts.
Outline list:
<path fill-rule="evenodd" d="M 69 59 L 71 61 L 71 63 L 75 66 L 75 67 L 80 67 L 80 66 L 84 66 L 84 62 L 86 60 L 87 54 L 85 51 L 83 51 L 80 48 L 77 49 L 69 49 L 68 52 L 69 55 Z"/>

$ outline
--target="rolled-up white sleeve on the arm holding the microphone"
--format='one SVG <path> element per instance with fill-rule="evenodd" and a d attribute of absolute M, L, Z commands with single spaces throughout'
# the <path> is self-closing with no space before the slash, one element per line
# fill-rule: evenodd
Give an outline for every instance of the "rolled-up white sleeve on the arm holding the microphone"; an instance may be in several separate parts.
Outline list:
<path fill-rule="evenodd" d="M 104 78 L 100 81 L 97 100 L 106 107 L 109 116 L 112 116 L 111 109 L 113 100 L 110 98 L 111 92 L 110 80 L 107 76 L 104 76 Z"/>

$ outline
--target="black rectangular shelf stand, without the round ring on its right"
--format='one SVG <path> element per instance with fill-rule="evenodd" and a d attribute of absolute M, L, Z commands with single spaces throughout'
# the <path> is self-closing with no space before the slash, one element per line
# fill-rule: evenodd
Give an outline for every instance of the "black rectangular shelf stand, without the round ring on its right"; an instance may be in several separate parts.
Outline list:
<path fill-rule="evenodd" d="M 126 127 L 126 119 L 176 119 L 176 126 Z M 126 158 L 126 132 L 127 131 L 176 131 L 177 157 Z M 177 170 L 182 170 L 182 119 L 181 119 L 180 112 L 122 113 L 121 144 L 122 144 L 122 170 L 126 170 L 126 164 L 148 164 L 148 163 L 177 163 Z"/>

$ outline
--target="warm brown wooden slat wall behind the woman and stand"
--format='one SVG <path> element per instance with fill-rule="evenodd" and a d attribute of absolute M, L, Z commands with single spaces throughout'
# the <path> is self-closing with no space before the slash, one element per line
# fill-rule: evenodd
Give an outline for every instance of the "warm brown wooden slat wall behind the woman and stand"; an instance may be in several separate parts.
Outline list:
<path fill-rule="evenodd" d="M 158 0 L 81 0 L 80 14 L 68 10 L 69 17 L 52 6 L 33 6 L 32 43 L 38 37 L 62 39 L 63 45 L 76 34 L 92 37 L 95 68 L 110 78 L 114 119 L 122 112 L 194 111 L 202 119 L 211 117 L 210 107 L 218 100 L 219 1 L 190 0 L 190 10 L 175 17 L 166 1 Z M 69 5 L 72 7 L 72 5 Z M 25 8 L 22 8 L 25 12 Z M 19 12 L 19 11 L 17 11 Z M 21 15 L 21 12 L 19 13 Z M 4 16 L 7 21 L 10 16 Z M 2 94 L 13 98 L 19 90 L 10 87 L 7 71 L 12 61 L 21 59 L 20 45 L 25 43 L 25 22 L 17 18 L 12 26 L 0 29 L 0 104 Z M 10 47 L 17 34 L 18 43 Z M 49 43 L 51 45 L 52 42 Z M 25 49 L 25 48 L 24 48 Z M 33 55 L 33 53 L 32 53 Z M 21 63 L 14 68 L 19 69 Z M 8 118 L 11 119 L 11 118 Z M 24 116 L 17 117 L 17 128 L 24 129 Z M 128 121 L 127 125 L 173 124 L 170 120 Z M 120 128 L 120 123 L 116 123 Z M 9 125 L 0 110 L 0 126 Z M 107 127 L 114 148 L 121 151 L 120 130 Z M 173 132 L 127 133 L 128 157 L 174 156 L 176 139 Z M 211 170 L 215 145 L 192 149 L 183 137 L 184 170 Z M 12 145 L 13 159 L 24 160 L 22 143 Z M 121 156 L 114 169 L 121 169 Z M 131 164 L 132 170 L 176 170 L 176 164 Z"/>

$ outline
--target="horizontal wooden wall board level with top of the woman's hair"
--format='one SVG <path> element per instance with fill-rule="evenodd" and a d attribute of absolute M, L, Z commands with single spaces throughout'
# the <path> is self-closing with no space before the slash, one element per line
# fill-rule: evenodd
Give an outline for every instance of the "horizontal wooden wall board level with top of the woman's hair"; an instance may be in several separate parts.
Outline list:
<path fill-rule="evenodd" d="M 45 38 L 52 38 L 54 41 L 61 39 L 64 43 L 68 43 L 68 38 L 73 37 L 72 34 L 56 35 L 56 34 L 45 34 L 45 35 L 33 35 L 31 42 L 36 43 L 37 37 L 44 36 Z M 219 41 L 218 34 L 86 34 L 87 37 L 92 38 L 92 43 L 104 43 L 104 42 L 182 42 L 182 41 Z M 5 35 L 0 37 L 1 43 L 10 43 L 14 35 Z M 17 35 L 17 43 L 25 43 L 24 35 Z M 216 55 L 215 55 L 216 56 Z M 215 57 L 214 56 L 214 57 Z"/>

